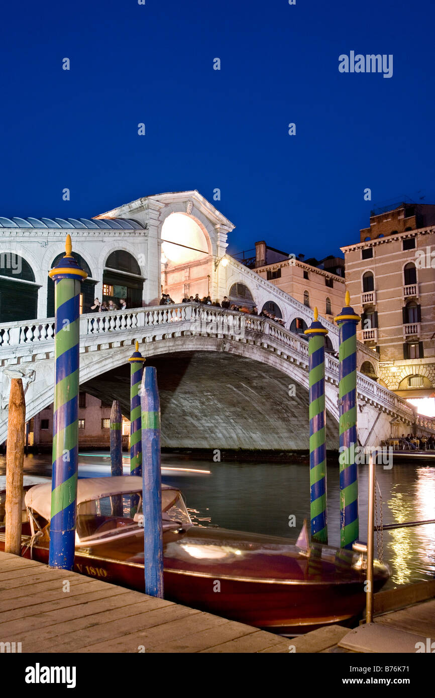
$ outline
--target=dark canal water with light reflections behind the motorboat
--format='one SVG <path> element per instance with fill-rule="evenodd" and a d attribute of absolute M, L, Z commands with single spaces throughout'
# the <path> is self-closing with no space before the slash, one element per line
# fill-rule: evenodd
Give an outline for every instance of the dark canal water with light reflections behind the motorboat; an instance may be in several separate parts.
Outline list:
<path fill-rule="evenodd" d="M 205 472 L 198 472 L 205 471 Z M 129 457 L 124 458 L 124 473 Z M 25 457 L 24 473 L 51 476 L 48 454 Z M 0 475 L 6 459 L 0 456 Z M 80 454 L 79 477 L 110 475 L 107 452 Z M 200 526 L 221 526 L 253 533 L 279 535 L 294 541 L 309 519 L 309 466 L 301 463 L 214 463 L 162 456 L 163 482 L 181 489 L 191 517 Z M 383 524 L 435 518 L 435 468 L 424 465 L 376 466 L 381 490 Z M 3 480 L 3 478 L 1 478 Z M 367 539 L 368 467 L 359 466 L 360 540 Z M 339 468 L 328 463 L 329 543 L 339 547 Z M 295 526 L 289 526 L 295 518 Z M 378 556 L 392 570 L 389 588 L 434 579 L 435 524 L 399 528 L 378 534 Z"/>

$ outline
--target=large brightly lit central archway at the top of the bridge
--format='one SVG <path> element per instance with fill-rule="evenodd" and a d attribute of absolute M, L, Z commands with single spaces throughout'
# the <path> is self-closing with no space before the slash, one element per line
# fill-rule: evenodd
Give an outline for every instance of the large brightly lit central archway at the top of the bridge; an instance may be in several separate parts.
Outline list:
<path fill-rule="evenodd" d="M 189 214 L 172 213 L 161 229 L 161 290 L 176 302 L 210 294 L 212 246 L 207 232 Z M 212 301 L 221 298 L 212 298 Z"/>

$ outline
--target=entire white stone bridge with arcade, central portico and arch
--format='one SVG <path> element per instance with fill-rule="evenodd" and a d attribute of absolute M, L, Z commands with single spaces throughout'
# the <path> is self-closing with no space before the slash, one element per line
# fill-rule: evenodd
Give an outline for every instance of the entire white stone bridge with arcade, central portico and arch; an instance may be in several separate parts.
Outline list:
<path fill-rule="evenodd" d="M 71 234 L 88 279 L 82 282 L 80 384 L 129 414 L 128 357 L 135 340 L 155 365 L 162 445 L 306 449 L 308 346 L 296 328 L 313 311 L 226 254 L 234 226 L 197 191 L 142 198 L 89 220 L 0 218 L 0 443 L 6 438 L 11 369 L 23 377 L 27 419 L 53 400 L 53 290 L 47 272 Z M 161 292 L 175 305 L 158 306 Z M 272 320 L 184 296 L 224 295 L 236 304 L 276 309 Z M 125 297 L 128 309 L 87 313 L 94 297 Z M 9 302 L 8 302 L 9 298 Z M 6 303 L 6 305 L 5 305 Z M 271 305 L 272 304 L 272 305 Z M 48 312 L 47 312 L 48 311 Z M 51 312 L 50 312 L 51 311 Z M 327 446 L 338 447 L 338 329 L 329 330 Z M 296 331 L 295 331 L 296 330 Z M 358 346 L 357 367 L 377 355 Z M 391 424 L 410 431 L 409 403 L 358 372 L 358 436 L 378 445 Z M 420 428 L 433 424 L 420 424 Z"/>

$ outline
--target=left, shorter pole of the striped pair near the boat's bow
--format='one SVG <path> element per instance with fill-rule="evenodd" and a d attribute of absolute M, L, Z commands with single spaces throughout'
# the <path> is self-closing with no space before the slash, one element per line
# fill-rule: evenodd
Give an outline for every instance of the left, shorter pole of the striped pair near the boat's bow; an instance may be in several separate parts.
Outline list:
<path fill-rule="evenodd" d="M 326 429 L 325 429 L 325 335 L 318 321 L 305 330 L 309 336 L 309 484 L 311 539 L 327 543 Z"/>

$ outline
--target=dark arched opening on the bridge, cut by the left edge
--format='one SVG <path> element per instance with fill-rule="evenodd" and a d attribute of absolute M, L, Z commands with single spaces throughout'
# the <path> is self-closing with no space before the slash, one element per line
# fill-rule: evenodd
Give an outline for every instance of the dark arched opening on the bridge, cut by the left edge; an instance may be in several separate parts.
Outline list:
<path fill-rule="evenodd" d="M 29 262 L 15 252 L 0 252 L 0 322 L 36 318 L 38 288 Z"/>

